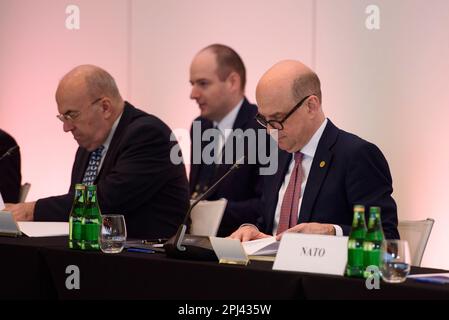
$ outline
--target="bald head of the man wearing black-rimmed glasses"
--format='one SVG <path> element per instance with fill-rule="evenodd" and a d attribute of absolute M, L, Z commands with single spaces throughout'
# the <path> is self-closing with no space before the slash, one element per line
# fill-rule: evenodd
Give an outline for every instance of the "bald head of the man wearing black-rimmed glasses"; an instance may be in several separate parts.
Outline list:
<path fill-rule="evenodd" d="M 304 98 L 299 109 L 285 119 Z M 278 143 L 288 152 L 301 150 L 325 119 L 320 80 L 299 61 L 285 60 L 271 67 L 259 80 L 256 99 L 259 113 L 267 120 L 284 120 Z"/>

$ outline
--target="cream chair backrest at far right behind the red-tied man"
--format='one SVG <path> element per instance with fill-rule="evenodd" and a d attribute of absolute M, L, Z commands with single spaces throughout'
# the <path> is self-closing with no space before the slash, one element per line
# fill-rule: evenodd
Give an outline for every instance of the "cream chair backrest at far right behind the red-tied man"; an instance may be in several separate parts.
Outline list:
<path fill-rule="evenodd" d="M 399 221 L 401 239 L 407 240 L 413 266 L 421 266 L 421 260 L 435 220 Z"/>

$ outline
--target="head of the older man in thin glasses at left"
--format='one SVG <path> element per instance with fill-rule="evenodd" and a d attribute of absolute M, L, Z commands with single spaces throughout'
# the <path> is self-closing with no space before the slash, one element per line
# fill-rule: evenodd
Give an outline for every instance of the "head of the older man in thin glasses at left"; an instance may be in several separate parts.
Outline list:
<path fill-rule="evenodd" d="M 92 151 L 106 140 L 124 108 L 114 78 L 93 65 L 68 72 L 56 90 L 58 111 L 64 131 L 72 132 L 78 144 Z"/>

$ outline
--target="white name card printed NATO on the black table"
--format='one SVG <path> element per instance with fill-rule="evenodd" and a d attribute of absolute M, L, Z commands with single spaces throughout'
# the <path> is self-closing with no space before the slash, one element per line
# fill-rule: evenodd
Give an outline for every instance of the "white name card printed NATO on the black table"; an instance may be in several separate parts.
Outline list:
<path fill-rule="evenodd" d="M 344 275 L 348 237 L 286 233 L 273 270 Z"/>

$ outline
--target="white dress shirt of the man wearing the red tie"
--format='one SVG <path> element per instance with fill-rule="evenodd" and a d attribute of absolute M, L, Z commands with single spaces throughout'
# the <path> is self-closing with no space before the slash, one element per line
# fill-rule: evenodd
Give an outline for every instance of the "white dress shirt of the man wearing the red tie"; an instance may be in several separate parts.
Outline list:
<path fill-rule="evenodd" d="M 303 170 L 303 178 L 301 183 L 301 198 L 299 199 L 299 205 L 298 205 L 298 218 L 299 213 L 301 212 L 301 204 L 302 204 L 302 195 L 304 195 L 304 190 L 306 188 L 307 179 L 309 177 L 310 168 L 312 167 L 313 158 L 316 153 L 316 149 L 318 148 L 318 143 L 320 142 L 321 136 L 323 135 L 324 129 L 326 128 L 328 120 L 325 119 L 321 126 L 318 128 L 318 130 L 314 133 L 312 138 L 309 140 L 309 142 L 301 149 L 301 153 L 303 154 L 301 167 Z M 279 189 L 278 193 L 278 203 L 276 205 L 276 210 L 274 214 L 274 222 L 273 222 L 273 235 L 277 233 L 278 225 L 279 225 L 279 218 L 281 216 L 281 206 L 282 201 L 284 199 L 285 191 L 287 190 L 288 182 L 290 181 L 290 176 L 292 175 L 293 167 L 295 166 L 295 160 L 294 156 L 292 157 L 292 160 L 290 162 L 290 165 L 288 167 L 287 174 L 284 177 L 284 181 L 282 182 L 281 188 Z M 343 230 L 340 226 L 334 225 L 335 228 L 335 234 L 337 236 L 343 235 Z"/>

